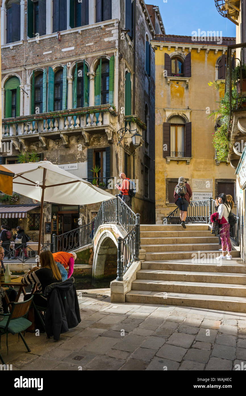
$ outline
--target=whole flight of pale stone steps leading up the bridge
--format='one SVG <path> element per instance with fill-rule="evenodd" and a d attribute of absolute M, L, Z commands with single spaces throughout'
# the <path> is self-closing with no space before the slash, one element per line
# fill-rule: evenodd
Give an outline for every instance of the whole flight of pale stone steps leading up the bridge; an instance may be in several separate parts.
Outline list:
<path fill-rule="evenodd" d="M 141 225 L 146 260 L 126 302 L 246 312 L 246 265 L 239 252 L 218 261 L 218 237 L 208 225 L 186 227 Z"/>

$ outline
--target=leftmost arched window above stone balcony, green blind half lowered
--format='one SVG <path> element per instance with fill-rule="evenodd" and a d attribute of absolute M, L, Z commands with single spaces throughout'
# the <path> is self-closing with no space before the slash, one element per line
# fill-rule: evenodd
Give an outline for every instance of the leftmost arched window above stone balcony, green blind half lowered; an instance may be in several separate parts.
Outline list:
<path fill-rule="evenodd" d="M 20 80 L 18 77 L 10 77 L 5 83 L 5 118 L 18 117 L 20 115 Z"/>

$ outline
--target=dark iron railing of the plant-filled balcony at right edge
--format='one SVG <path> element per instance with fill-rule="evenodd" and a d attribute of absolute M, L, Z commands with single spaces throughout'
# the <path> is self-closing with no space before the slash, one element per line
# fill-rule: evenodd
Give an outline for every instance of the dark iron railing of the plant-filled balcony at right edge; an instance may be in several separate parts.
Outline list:
<path fill-rule="evenodd" d="M 239 51 L 238 51 L 239 49 Z M 232 52 L 239 53 L 239 58 L 235 57 Z M 227 60 L 225 72 L 225 97 L 228 96 L 231 113 L 235 110 L 245 110 L 246 107 L 246 75 L 244 65 L 246 63 L 246 43 L 232 45 L 227 47 Z M 233 70 L 238 67 L 238 76 Z M 229 122 L 230 125 L 230 122 Z"/>

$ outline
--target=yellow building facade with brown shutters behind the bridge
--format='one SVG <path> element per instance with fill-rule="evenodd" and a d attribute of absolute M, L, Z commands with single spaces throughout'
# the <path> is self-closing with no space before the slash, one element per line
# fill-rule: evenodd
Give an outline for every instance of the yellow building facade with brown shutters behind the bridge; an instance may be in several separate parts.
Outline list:
<path fill-rule="evenodd" d="M 219 118 L 208 118 L 220 99 L 208 83 L 225 79 L 227 45 L 235 39 L 196 39 L 157 35 L 152 41 L 156 50 L 156 224 L 165 222 L 177 208 L 173 193 L 180 176 L 190 184 L 192 200 L 214 198 L 221 192 L 236 197 L 235 169 L 216 160 L 212 144 Z"/>

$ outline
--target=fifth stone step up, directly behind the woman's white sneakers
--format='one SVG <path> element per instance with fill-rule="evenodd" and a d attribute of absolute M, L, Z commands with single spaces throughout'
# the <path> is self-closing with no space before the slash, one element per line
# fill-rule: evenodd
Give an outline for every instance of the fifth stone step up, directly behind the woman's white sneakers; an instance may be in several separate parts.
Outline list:
<path fill-rule="evenodd" d="M 196 255 L 195 255 L 196 253 Z M 214 253 L 214 257 L 218 257 L 221 252 L 217 250 L 203 250 L 203 251 L 158 251 L 158 252 L 146 252 L 146 260 L 180 260 L 180 259 L 203 259 L 204 255 L 206 258 L 212 257 L 211 254 Z M 209 255 L 209 256 L 208 256 Z M 240 252 L 237 250 L 231 251 L 232 257 L 240 257 Z M 227 261 L 227 260 L 226 260 Z M 228 260 L 229 261 L 229 260 Z M 223 264 L 223 260 L 219 260 L 219 264 Z"/>

